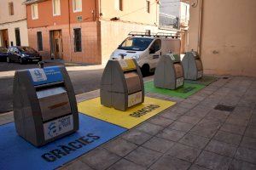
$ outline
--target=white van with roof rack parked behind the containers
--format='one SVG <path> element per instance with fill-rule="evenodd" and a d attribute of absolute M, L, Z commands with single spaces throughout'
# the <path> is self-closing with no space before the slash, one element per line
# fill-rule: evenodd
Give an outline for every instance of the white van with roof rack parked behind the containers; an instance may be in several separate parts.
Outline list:
<path fill-rule="evenodd" d="M 180 54 L 181 42 L 177 35 L 157 33 L 131 32 L 129 37 L 113 51 L 110 59 L 134 58 L 143 75 L 154 71 L 161 55 L 167 53 Z"/>

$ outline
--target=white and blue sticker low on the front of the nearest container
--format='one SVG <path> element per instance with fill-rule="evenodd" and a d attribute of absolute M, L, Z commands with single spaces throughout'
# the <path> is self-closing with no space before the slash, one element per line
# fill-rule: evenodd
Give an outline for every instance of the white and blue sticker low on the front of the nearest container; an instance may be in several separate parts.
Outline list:
<path fill-rule="evenodd" d="M 73 130 L 73 116 L 64 116 L 44 123 L 44 139 L 52 139 L 71 130 Z"/>

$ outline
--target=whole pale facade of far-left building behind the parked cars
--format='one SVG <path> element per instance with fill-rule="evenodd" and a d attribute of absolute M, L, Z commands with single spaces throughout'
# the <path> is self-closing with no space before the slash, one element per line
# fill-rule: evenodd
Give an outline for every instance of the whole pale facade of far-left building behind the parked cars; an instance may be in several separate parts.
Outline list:
<path fill-rule="evenodd" d="M 0 47 L 28 46 L 24 0 L 1 0 Z"/>

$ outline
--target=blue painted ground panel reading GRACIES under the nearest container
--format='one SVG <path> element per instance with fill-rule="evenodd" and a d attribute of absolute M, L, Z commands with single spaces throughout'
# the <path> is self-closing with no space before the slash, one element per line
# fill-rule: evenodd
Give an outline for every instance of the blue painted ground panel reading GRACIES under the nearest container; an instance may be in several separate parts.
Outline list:
<path fill-rule="evenodd" d="M 113 139 L 127 129 L 79 114 L 79 131 L 37 148 L 11 122 L 0 126 L 1 169 L 54 169 Z"/>

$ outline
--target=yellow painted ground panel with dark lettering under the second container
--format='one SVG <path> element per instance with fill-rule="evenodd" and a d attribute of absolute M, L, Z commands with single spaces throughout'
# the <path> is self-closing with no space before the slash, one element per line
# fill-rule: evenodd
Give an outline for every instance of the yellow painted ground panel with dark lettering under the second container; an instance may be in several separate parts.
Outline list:
<path fill-rule="evenodd" d="M 120 127 L 131 128 L 175 104 L 172 101 L 145 97 L 143 104 L 131 107 L 127 111 L 118 111 L 101 105 L 100 98 L 96 98 L 80 102 L 78 107 L 79 112 L 85 115 L 96 117 Z"/>

